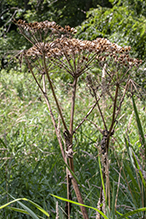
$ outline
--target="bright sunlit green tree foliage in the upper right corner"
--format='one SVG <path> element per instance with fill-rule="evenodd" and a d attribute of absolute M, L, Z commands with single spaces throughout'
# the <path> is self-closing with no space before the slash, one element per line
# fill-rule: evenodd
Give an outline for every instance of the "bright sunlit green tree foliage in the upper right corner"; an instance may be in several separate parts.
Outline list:
<path fill-rule="evenodd" d="M 107 37 L 110 40 L 132 47 L 133 54 L 146 57 L 146 2 L 110 1 L 112 8 L 97 6 L 87 12 L 87 19 L 80 26 L 80 36 L 84 39 Z"/>

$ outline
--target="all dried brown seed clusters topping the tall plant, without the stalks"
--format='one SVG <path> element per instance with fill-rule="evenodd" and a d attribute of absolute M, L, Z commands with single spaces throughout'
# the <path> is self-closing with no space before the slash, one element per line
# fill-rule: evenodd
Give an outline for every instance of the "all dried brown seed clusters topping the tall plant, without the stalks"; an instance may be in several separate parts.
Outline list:
<path fill-rule="evenodd" d="M 104 38 L 97 38 L 93 41 L 72 38 L 71 34 L 75 33 L 75 29 L 70 26 L 65 26 L 65 28 L 63 28 L 54 21 L 26 23 L 23 20 L 18 20 L 14 22 L 22 30 L 24 29 L 25 31 L 32 33 L 35 33 L 38 30 L 46 31 L 50 29 L 52 33 L 62 34 L 57 38 L 55 37 L 51 42 L 43 43 L 35 41 L 34 46 L 26 51 L 26 55 L 33 58 L 45 54 L 45 57 L 50 58 L 51 60 L 62 56 L 69 56 L 69 58 L 74 59 L 75 55 L 78 54 L 80 55 L 80 62 L 87 63 L 90 54 L 95 54 L 95 57 L 99 62 L 105 62 L 107 57 L 110 57 L 114 62 L 124 66 L 138 66 L 142 63 L 142 60 L 130 58 L 129 51 L 131 47 L 121 47 Z"/>

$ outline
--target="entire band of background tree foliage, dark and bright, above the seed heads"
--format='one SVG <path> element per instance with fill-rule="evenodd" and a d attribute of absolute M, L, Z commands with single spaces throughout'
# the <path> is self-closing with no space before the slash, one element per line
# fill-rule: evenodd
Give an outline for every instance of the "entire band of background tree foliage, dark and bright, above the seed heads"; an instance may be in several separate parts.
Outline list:
<path fill-rule="evenodd" d="M 14 18 L 78 26 L 80 38 L 107 37 L 121 46 L 130 45 L 136 57 L 146 57 L 144 0 L 4 0 L 0 2 L 0 15 L 1 68 L 10 62 L 9 54 L 28 47 L 12 22 Z"/>

